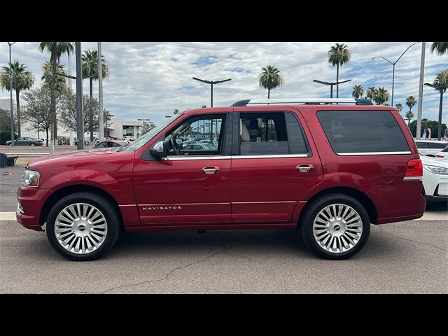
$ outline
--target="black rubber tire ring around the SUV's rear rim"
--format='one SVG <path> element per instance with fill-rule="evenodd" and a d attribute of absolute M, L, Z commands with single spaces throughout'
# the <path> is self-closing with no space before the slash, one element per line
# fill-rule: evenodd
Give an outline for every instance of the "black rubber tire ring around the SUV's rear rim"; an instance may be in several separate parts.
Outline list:
<path fill-rule="evenodd" d="M 349 207 L 352 207 L 356 212 L 358 212 L 362 225 L 363 232 L 361 233 L 361 237 L 359 238 L 357 244 L 349 249 L 349 251 L 340 252 L 340 253 L 332 253 L 326 251 L 321 245 L 318 244 L 313 234 L 313 223 L 318 215 L 318 213 L 328 207 L 331 204 L 346 204 Z M 367 214 L 367 211 L 363 207 L 363 204 L 360 204 L 356 199 L 349 195 L 341 194 L 341 193 L 332 193 L 323 195 L 322 197 L 318 197 L 318 199 L 312 201 L 307 204 L 307 208 L 304 209 L 304 216 L 301 218 L 299 223 L 300 235 L 304 243 L 317 255 L 321 256 L 325 259 L 330 260 L 343 260 L 352 257 L 356 253 L 358 253 L 365 243 L 370 234 L 370 218 Z"/>

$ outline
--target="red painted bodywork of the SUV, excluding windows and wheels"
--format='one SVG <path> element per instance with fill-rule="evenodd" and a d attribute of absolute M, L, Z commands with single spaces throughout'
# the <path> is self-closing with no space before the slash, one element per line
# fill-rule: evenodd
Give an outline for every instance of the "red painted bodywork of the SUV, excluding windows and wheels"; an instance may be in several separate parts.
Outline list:
<path fill-rule="evenodd" d="M 387 106 L 325 106 L 334 110 L 388 110 Z M 397 111 L 395 120 L 409 144 L 409 155 L 335 154 L 316 111 L 321 106 L 252 106 L 190 110 L 138 151 L 80 151 L 49 155 L 28 168 L 41 174 L 38 188 L 20 187 L 18 200 L 25 228 L 40 230 L 43 205 L 53 193 L 83 185 L 99 188 L 116 201 L 128 231 L 294 228 L 307 201 L 329 188 L 358 190 L 374 204 L 377 223 L 422 216 L 419 155 Z M 144 160 L 142 155 L 190 116 L 204 113 L 291 111 L 302 124 L 309 158 L 225 158 Z M 239 136 L 239 134 L 234 134 Z M 415 165 L 414 165 L 415 164 Z M 302 167 L 302 169 L 300 169 Z M 309 167 L 306 172 L 303 167 Z M 417 174 L 418 175 L 418 174 Z M 412 175 L 416 176 L 416 175 Z M 94 189 L 92 189 L 94 190 Z M 45 221 L 45 218 L 43 218 Z"/>

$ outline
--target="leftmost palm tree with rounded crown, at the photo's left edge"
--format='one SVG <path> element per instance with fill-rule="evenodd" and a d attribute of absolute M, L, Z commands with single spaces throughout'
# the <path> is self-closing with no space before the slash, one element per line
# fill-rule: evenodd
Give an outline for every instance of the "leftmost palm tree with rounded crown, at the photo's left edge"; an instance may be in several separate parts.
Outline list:
<path fill-rule="evenodd" d="M 18 61 L 12 62 L 8 66 L 3 66 L 0 74 L 0 87 L 9 91 L 9 66 L 11 67 L 11 81 L 15 90 L 15 103 L 17 104 L 17 130 L 21 137 L 20 126 L 20 91 L 30 89 L 34 84 L 34 76 L 31 71 L 27 71 L 27 66 Z"/>

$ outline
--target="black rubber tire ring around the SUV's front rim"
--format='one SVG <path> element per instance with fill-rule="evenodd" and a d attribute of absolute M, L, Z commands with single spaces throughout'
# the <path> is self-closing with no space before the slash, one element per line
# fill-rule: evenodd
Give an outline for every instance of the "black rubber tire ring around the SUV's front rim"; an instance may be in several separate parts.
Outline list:
<path fill-rule="evenodd" d="M 104 218 L 106 218 L 107 234 L 104 242 L 96 250 L 90 253 L 78 254 L 67 251 L 64 247 L 61 246 L 61 244 L 59 244 L 59 241 L 57 241 L 57 237 L 55 234 L 56 218 L 62 211 L 62 209 L 68 207 L 70 204 L 75 203 L 90 204 L 99 209 L 99 211 L 101 211 L 104 215 Z M 98 259 L 102 255 L 104 255 L 104 253 L 109 251 L 109 249 L 116 243 L 118 235 L 120 235 L 120 226 L 121 223 L 118 209 L 116 209 L 116 207 L 113 207 L 111 202 L 95 193 L 81 192 L 73 193 L 62 198 L 62 200 L 59 200 L 55 204 L 55 206 L 52 207 L 50 214 L 48 214 L 46 233 L 48 241 L 50 241 L 51 246 L 55 248 L 57 253 L 70 260 L 87 261 Z"/>

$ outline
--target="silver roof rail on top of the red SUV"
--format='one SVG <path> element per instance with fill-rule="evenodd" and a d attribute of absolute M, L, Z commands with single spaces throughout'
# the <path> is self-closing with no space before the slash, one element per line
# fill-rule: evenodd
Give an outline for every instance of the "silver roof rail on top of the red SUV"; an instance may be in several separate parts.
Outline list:
<path fill-rule="evenodd" d="M 297 98 L 297 99 L 246 99 L 236 102 L 232 106 L 254 106 L 254 105 L 321 105 L 321 104 L 356 104 L 373 105 L 369 99 L 358 98 Z"/>

